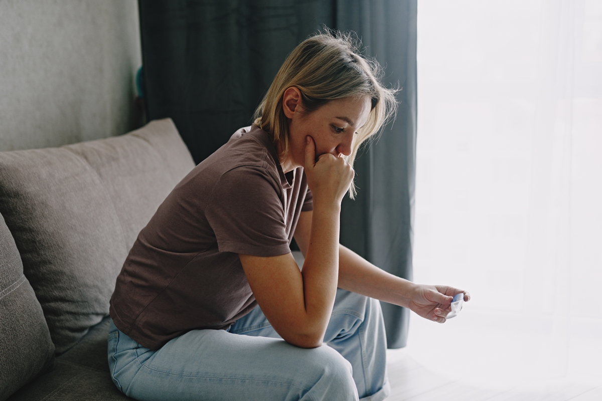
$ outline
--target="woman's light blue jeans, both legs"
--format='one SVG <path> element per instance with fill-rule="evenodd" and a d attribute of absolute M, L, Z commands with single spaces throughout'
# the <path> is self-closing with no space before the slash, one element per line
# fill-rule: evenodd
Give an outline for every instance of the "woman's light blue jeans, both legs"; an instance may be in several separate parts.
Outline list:
<path fill-rule="evenodd" d="M 137 400 L 380 401 L 389 395 L 386 336 L 378 301 L 337 290 L 324 343 L 279 337 L 259 307 L 226 330 L 193 330 L 153 351 L 111 322 L 108 362 L 122 393 Z"/>

